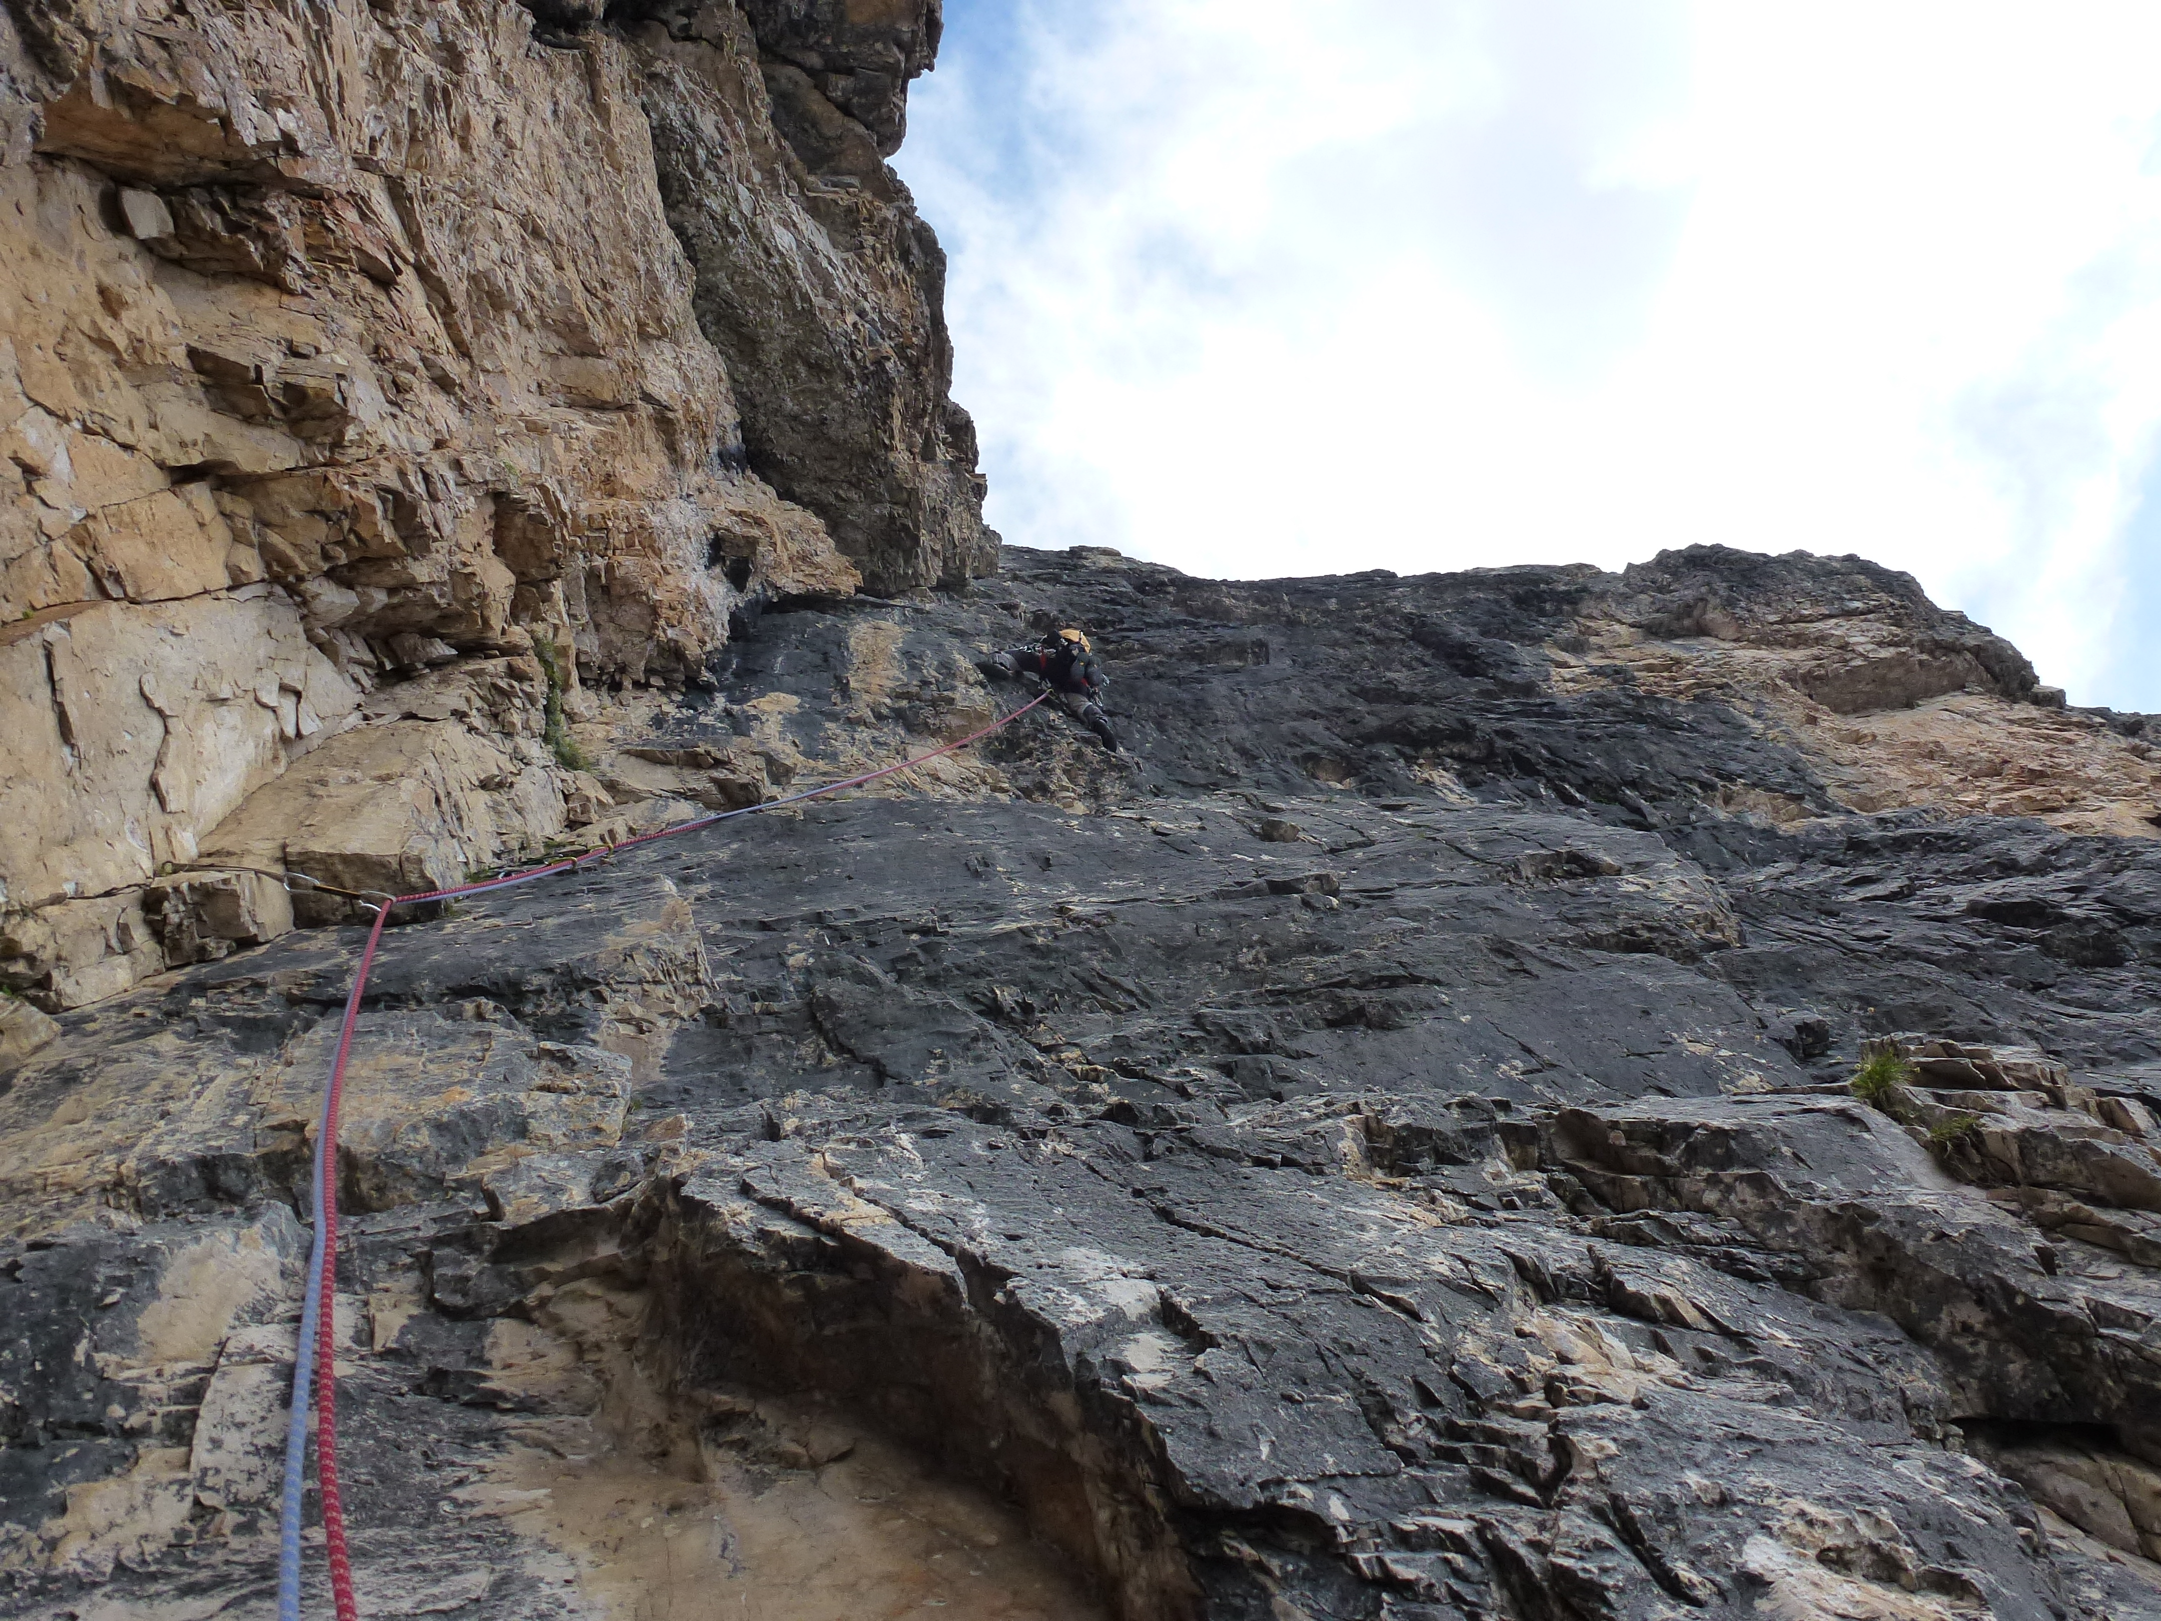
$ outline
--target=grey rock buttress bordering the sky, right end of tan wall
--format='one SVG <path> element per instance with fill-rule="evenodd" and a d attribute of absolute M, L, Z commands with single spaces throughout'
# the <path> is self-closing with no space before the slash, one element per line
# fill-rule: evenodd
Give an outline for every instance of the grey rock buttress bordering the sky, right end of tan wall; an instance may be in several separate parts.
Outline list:
<path fill-rule="evenodd" d="M 947 396 L 944 253 L 884 164 L 936 50 L 936 0 L 653 11 L 661 199 L 743 404 L 743 456 L 826 519 L 873 590 L 990 573 L 975 426 Z M 767 173 L 802 223 L 743 203 Z"/>

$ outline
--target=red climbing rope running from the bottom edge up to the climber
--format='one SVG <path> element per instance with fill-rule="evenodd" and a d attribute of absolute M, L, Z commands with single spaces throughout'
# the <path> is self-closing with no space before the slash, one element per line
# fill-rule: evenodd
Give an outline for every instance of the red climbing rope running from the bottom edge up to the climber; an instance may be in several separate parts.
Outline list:
<path fill-rule="evenodd" d="M 432 888 L 417 895 L 395 895 L 376 908 L 374 927 L 367 929 L 367 947 L 361 951 L 361 964 L 352 975 L 352 992 L 346 996 L 346 1018 L 337 1031 L 337 1057 L 331 1061 L 331 1083 L 322 1104 L 322 1143 L 320 1154 L 320 1180 L 316 1187 L 316 1223 L 318 1238 L 313 1260 L 316 1275 L 309 1277 L 309 1292 L 316 1299 L 316 1344 L 298 1347 L 294 1357 L 294 1390 L 305 1403 L 305 1379 L 303 1368 L 307 1366 L 309 1353 L 313 1351 L 316 1362 L 316 1478 L 322 1483 L 322 1543 L 324 1558 L 331 1567 L 331 1597 L 337 1604 L 337 1621 L 359 1621 L 359 1604 L 352 1599 L 352 1560 L 346 1552 L 346 1504 L 337 1487 L 337 1325 L 331 1316 L 337 1290 L 337 1107 L 346 1089 L 346 1061 L 352 1057 L 352 1031 L 361 1018 L 361 996 L 367 990 L 367 970 L 376 962 L 376 947 L 382 945 L 382 925 L 389 923 L 391 908 L 415 906 L 419 901 L 449 901 L 460 895 L 486 895 L 488 890 L 510 888 L 512 884 L 529 884 L 536 878 L 547 878 L 551 873 L 577 871 L 586 862 L 614 856 L 620 849 L 631 849 L 635 845 L 650 845 L 655 839 L 672 839 L 681 832 L 696 832 L 698 828 L 711 828 L 715 821 L 728 821 L 733 817 L 748 817 L 761 810 L 778 810 L 789 804 L 802 804 L 804 800 L 817 800 L 828 793 L 838 793 L 841 789 L 856 789 L 864 782 L 877 782 L 884 776 L 897 776 L 916 765 L 925 765 L 940 754 L 953 754 L 955 750 L 968 748 L 968 743 L 990 737 L 1001 726 L 1009 726 L 1024 713 L 1044 702 L 1050 694 L 1037 694 L 1020 709 L 1009 715 L 998 715 L 981 731 L 968 733 L 966 737 L 934 748 L 927 754 L 916 754 L 914 759 L 901 761 L 899 765 L 884 765 L 875 772 L 864 772 L 862 776 L 849 776 L 841 782 L 828 782 L 804 793 L 791 793 L 784 800 L 771 800 L 769 804 L 746 804 L 739 810 L 717 810 L 709 817 L 694 817 L 689 821 L 679 821 L 672 828 L 657 828 L 655 832 L 642 832 L 635 839 L 625 839 L 618 845 L 603 845 L 601 849 L 588 849 L 583 856 L 573 856 L 568 860 L 555 860 L 545 867 L 534 867 L 523 873 L 506 873 L 501 878 L 488 878 L 478 884 L 456 884 L 452 888 Z M 309 1323 L 303 1318 L 303 1338 Z M 298 1420 L 296 1420 L 298 1422 Z M 298 1431 L 296 1431 L 298 1435 Z M 294 1442 L 298 1446 L 298 1442 Z M 298 1468 L 294 1457 L 287 1455 L 287 1470 Z M 298 1504 L 298 1476 L 287 1481 L 287 1502 Z M 294 1522 L 296 1530 L 298 1522 Z M 298 1537 L 290 1537 L 287 1543 L 298 1552 Z M 296 1576 L 296 1573 L 294 1573 Z M 290 1582 L 294 1597 L 298 1595 L 298 1582 Z"/>

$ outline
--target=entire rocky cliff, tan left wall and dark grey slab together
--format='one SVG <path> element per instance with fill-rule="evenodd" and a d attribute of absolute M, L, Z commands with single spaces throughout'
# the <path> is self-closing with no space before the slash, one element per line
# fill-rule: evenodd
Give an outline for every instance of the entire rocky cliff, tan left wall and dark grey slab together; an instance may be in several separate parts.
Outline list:
<path fill-rule="evenodd" d="M 1126 754 L 387 934 L 363 1615 L 2161 1617 L 2161 720 L 1852 558 L 996 553 L 923 0 L 4 15 L 0 1615 L 272 1610 L 305 880 L 884 765 L 1080 625 Z"/>

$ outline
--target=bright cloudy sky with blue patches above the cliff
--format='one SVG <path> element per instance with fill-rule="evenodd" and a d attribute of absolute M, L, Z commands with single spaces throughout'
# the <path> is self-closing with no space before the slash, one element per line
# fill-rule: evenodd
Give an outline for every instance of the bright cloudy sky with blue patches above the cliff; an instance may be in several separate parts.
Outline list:
<path fill-rule="evenodd" d="M 2152 0 L 947 0 L 990 521 L 1199 575 L 1861 553 L 2161 711 Z"/>

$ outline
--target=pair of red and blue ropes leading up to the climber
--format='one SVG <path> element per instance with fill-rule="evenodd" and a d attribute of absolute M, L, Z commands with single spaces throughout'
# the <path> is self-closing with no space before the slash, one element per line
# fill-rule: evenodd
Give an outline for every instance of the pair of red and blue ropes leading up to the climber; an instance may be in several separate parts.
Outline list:
<path fill-rule="evenodd" d="M 899 765 L 886 765 L 841 782 L 828 782 L 819 789 L 791 793 L 784 800 L 771 800 L 769 804 L 746 804 L 739 810 L 715 810 L 709 817 L 692 817 L 689 821 L 679 821 L 672 828 L 657 828 L 653 832 L 637 834 L 635 839 L 625 839 L 620 845 L 588 849 L 583 856 L 549 862 L 547 867 L 534 867 L 525 873 L 491 878 L 480 884 L 458 884 L 454 888 L 432 888 L 417 895 L 395 895 L 376 908 L 374 927 L 367 929 L 367 945 L 361 951 L 361 966 L 354 970 L 352 990 L 346 994 L 346 1018 L 337 1029 L 337 1057 L 331 1061 L 331 1083 L 322 1091 L 322 1120 L 316 1126 L 316 1163 L 311 1182 L 316 1197 L 316 1238 L 307 1254 L 307 1295 L 300 1301 L 300 1342 L 294 1349 L 292 1359 L 292 1416 L 285 1426 L 285 1498 L 279 1515 L 277 1578 L 279 1621 L 300 1621 L 300 1493 L 307 1476 L 307 1403 L 311 1390 L 316 1398 L 316 1478 L 322 1485 L 322 1545 L 324 1558 L 331 1567 L 331 1599 L 337 1606 L 337 1621 L 359 1621 L 359 1606 L 352 1599 L 352 1560 L 346 1552 L 346 1504 L 337 1489 L 337 1334 L 331 1318 L 331 1301 L 337 1288 L 337 1104 L 346 1087 L 346 1059 L 352 1057 L 352 1027 L 361 1016 L 361 996 L 367 990 L 367 970 L 376 962 L 376 949 L 382 945 L 382 925 L 389 923 L 391 908 L 415 906 L 419 901 L 449 901 L 460 895 L 488 895 L 499 888 L 512 888 L 514 884 L 532 884 L 536 878 L 575 873 L 594 860 L 614 856 L 618 849 L 648 845 L 655 839 L 672 839 L 681 832 L 711 828 L 715 821 L 733 821 L 735 817 L 750 817 L 761 810 L 780 810 L 782 806 L 817 800 L 828 793 L 838 793 L 841 789 L 877 782 L 884 776 L 897 776 L 916 765 L 925 765 L 940 754 L 951 754 L 968 748 L 968 743 L 990 737 L 994 731 L 1020 720 L 1048 696 L 1048 692 L 1042 692 L 1014 713 L 990 722 L 983 731 L 968 733 L 953 743 L 934 748 L 927 754 L 916 754 Z"/>

